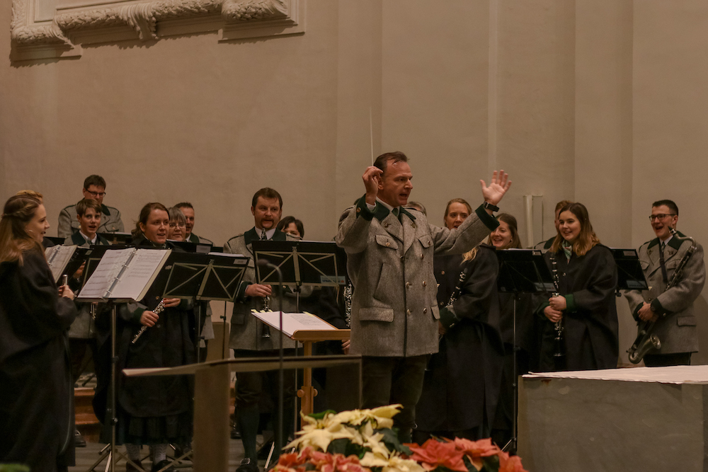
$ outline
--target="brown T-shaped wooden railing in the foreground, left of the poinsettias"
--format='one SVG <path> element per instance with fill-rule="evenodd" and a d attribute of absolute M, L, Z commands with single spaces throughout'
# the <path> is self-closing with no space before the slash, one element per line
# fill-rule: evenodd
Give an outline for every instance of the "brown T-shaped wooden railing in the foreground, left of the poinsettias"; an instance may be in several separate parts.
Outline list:
<path fill-rule="evenodd" d="M 312 344 L 311 344 L 312 346 Z M 241 357 L 171 369 L 125 369 L 126 376 L 194 375 L 193 470 L 229 471 L 229 387 L 231 372 L 263 372 L 282 369 L 313 369 L 358 364 L 353 355 L 284 357 Z M 310 386 L 312 388 L 312 386 Z M 304 399 L 303 399 L 304 405 Z"/>

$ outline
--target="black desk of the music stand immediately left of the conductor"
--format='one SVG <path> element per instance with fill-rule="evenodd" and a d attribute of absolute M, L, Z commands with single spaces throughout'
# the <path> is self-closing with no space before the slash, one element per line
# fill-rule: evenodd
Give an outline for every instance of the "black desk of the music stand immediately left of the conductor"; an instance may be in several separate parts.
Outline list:
<path fill-rule="evenodd" d="M 289 287 L 345 285 L 346 263 L 343 249 L 333 242 L 253 241 L 256 280 L 259 284 L 278 284 L 278 272 L 258 265 L 267 260 L 282 271 L 282 284 Z"/>

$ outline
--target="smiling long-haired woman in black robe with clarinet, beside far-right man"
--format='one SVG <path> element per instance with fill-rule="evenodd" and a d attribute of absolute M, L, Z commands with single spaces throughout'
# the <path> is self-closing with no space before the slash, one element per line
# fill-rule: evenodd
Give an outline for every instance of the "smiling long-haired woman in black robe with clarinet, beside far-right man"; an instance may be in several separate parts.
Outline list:
<path fill-rule="evenodd" d="M 541 370 L 615 368 L 619 358 L 617 265 L 610 249 L 595 236 L 583 204 L 563 207 L 559 221 L 553 246 L 544 254 L 549 269 L 553 271 L 556 263 L 559 296 L 537 308 L 544 317 Z M 556 321 L 563 326 L 564 357 L 554 356 Z"/>

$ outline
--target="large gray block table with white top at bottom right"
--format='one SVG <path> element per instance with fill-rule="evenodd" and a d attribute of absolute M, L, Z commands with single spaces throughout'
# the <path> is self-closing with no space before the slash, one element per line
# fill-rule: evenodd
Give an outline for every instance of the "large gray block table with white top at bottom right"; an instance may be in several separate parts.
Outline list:
<path fill-rule="evenodd" d="M 708 366 L 523 376 L 530 471 L 708 471 Z"/>

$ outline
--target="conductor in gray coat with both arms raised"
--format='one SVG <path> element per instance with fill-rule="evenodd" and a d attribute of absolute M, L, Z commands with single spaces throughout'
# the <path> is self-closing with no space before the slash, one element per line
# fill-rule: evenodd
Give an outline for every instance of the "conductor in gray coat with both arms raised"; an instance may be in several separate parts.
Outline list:
<path fill-rule="evenodd" d="M 410 442 L 428 355 L 438 352 L 433 254 L 461 254 L 488 236 L 511 182 L 503 171 L 489 187 L 481 181 L 484 205 L 449 230 L 404 208 L 413 188 L 405 154 L 382 154 L 362 178 L 366 194 L 346 209 L 336 236 L 354 285 L 350 352 L 363 356 L 362 407 L 401 403 L 394 423 Z"/>

